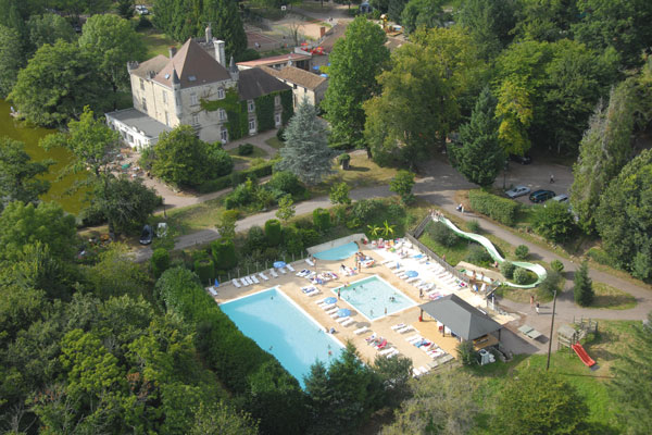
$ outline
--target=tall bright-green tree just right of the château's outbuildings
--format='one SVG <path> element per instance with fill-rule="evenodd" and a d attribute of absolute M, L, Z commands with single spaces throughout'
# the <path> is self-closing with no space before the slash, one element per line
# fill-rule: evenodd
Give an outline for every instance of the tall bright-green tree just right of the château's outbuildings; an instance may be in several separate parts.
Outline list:
<path fill-rule="evenodd" d="M 361 146 L 365 113 L 364 101 L 379 94 L 376 76 L 389 62 L 385 33 L 375 23 L 359 16 L 337 40 L 330 61 L 328 90 L 322 108 L 330 122 L 333 139 Z"/>

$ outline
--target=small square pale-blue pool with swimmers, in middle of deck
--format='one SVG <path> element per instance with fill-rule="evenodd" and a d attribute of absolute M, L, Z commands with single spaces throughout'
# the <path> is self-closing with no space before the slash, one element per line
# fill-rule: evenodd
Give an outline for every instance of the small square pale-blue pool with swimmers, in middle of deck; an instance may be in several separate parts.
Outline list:
<path fill-rule="evenodd" d="M 380 319 L 416 306 L 412 299 L 377 275 L 351 283 L 348 287 L 334 288 L 333 293 L 337 295 L 338 290 L 341 299 L 368 320 Z"/>

